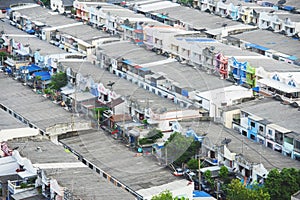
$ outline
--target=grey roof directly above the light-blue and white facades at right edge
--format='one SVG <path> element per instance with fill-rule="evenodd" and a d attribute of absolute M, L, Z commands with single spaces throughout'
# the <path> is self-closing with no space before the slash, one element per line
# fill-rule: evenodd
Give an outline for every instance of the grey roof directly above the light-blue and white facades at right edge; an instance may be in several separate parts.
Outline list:
<path fill-rule="evenodd" d="M 247 102 L 241 110 L 300 134 L 300 112 L 290 105 L 281 104 L 272 98 L 264 98 Z M 274 110 L 278 114 L 274 114 Z"/>

